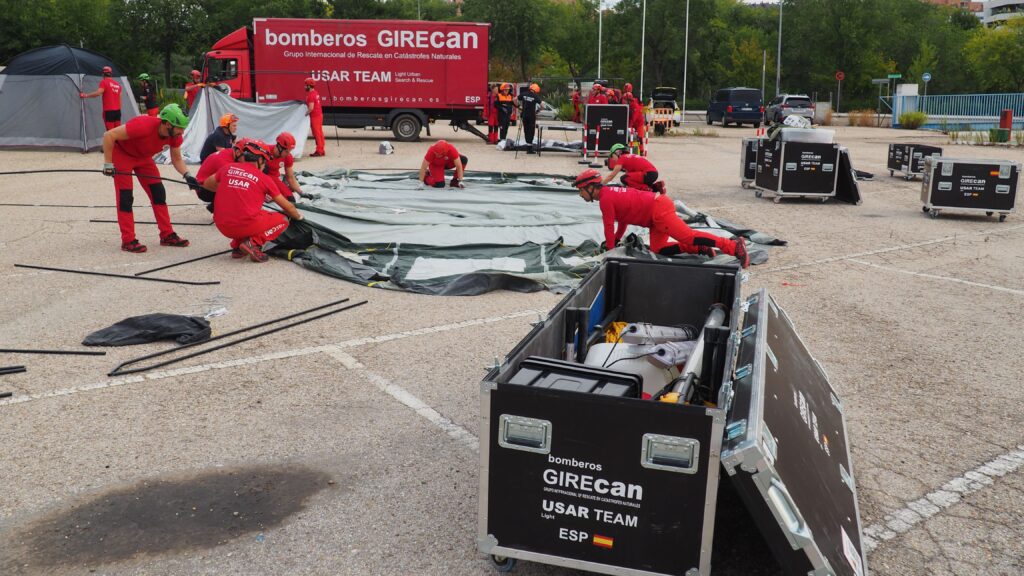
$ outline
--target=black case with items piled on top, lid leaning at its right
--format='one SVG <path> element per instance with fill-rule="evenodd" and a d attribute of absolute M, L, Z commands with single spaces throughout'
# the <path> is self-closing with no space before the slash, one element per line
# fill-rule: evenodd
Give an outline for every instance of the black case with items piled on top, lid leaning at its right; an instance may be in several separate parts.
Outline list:
<path fill-rule="evenodd" d="M 825 202 L 836 196 L 839 160 L 837 143 L 761 140 L 755 196 L 767 195 L 776 204 L 785 197 Z"/>

